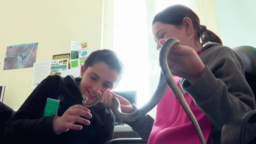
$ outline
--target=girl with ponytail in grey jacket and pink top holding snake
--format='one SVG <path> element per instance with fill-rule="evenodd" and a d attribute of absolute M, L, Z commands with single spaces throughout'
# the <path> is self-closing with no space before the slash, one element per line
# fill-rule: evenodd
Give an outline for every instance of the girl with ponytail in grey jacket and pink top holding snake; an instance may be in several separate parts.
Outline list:
<path fill-rule="evenodd" d="M 173 5 L 159 12 L 152 22 L 152 32 L 157 50 L 170 37 L 180 41 L 168 53 L 169 69 L 205 141 L 219 144 L 222 127 L 229 118 L 255 109 L 241 57 L 222 46 L 220 38 L 200 25 L 198 16 L 184 5 Z M 150 144 L 201 143 L 191 120 L 168 86 L 157 105 L 155 121 L 145 115 L 126 123 Z M 253 129 L 248 126 L 248 131 Z M 247 133 L 245 141 L 249 142 L 254 133 Z"/>

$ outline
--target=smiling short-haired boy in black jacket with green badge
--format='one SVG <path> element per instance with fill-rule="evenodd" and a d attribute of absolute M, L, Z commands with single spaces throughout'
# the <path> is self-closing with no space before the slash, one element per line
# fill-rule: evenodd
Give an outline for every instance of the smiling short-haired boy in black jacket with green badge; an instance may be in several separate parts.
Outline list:
<path fill-rule="evenodd" d="M 82 106 L 82 95 L 89 103 L 97 92 L 109 93 L 121 78 L 122 63 L 113 51 L 98 50 L 85 60 L 80 73 L 81 78 L 50 75 L 44 79 L 8 121 L 7 143 L 103 144 L 112 139 L 113 113 L 101 103 Z M 45 116 L 47 98 L 59 100 L 57 114 Z"/>

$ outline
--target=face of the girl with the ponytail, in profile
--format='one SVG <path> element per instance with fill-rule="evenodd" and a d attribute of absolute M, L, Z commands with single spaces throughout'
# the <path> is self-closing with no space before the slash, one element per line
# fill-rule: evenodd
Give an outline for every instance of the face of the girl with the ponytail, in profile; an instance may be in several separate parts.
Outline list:
<path fill-rule="evenodd" d="M 152 26 L 152 32 L 157 43 L 156 49 L 160 51 L 162 45 L 159 44 L 159 40 L 167 40 L 170 37 L 174 37 L 180 41 L 181 45 L 187 45 L 186 27 L 183 25 L 176 27 L 170 24 L 163 24 L 161 22 L 155 22 Z"/>

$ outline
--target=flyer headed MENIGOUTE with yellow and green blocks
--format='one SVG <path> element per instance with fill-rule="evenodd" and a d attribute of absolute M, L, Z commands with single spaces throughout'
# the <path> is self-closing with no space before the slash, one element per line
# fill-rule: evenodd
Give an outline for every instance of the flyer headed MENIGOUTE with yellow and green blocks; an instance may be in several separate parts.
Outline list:
<path fill-rule="evenodd" d="M 51 75 L 61 75 L 64 70 L 70 69 L 70 53 L 53 55 Z"/>

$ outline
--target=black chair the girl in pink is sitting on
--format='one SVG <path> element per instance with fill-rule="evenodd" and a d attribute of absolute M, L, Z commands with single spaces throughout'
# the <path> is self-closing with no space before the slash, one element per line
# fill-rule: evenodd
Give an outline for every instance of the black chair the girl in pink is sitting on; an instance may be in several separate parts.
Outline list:
<path fill-rule="evenodd" d="M 254 96 L 256 96 L 256 48 L 251 46 L 239 46 L 233 48 L 238 53 L 244 62 L 245 78 L 250 85 Z M 241 113 L 240 117 L 232 117 L 226 124 L 224 124 L 221 132 L 221 144 L 246 144 L 244 134 L 247 124 L 255 124 L 256 129 L 256 110 Z M 256 135 L 256 133 L 255 133 Z M 140 138 L 128 139 L 113 139 L 107 141 L 105 144 L 127 144 L 127 143 L 140 143 L 143 141 Z M 247 144 L 255 144 L 256 136 Z"/>

